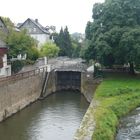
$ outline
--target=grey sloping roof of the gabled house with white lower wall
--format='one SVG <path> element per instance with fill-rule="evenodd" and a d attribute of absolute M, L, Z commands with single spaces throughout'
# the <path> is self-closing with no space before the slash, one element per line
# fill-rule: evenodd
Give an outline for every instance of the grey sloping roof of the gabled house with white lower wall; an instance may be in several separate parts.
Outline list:
<path fill-rule="evenodd" d="M 49 32 L 45 29 L 45 27 L 43 27 L 43 26 L 38 22 L 38 20 L 36 21 L 36 20 L 33 20 L 33 19 L 28 18 L 26 21 L 28 21 L 28 20 L 30 20 L 33 24 L 35 24 L 43 33 L 49 34 Z M 25 21 L 25 22 L 26 22 L 26 21 Z M 25 22 L 22 23 L 18 28 L 21 28 L 21 27 L 25 24 Z"/>

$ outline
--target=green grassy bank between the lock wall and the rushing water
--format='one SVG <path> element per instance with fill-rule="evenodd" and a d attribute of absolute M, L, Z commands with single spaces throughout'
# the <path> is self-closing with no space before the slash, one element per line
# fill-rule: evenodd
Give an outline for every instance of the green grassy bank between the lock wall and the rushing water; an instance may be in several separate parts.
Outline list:
<path fill-rule="evenodd" d="M 140 77 L 109 74 L 97 88 L 93 140 L 114 140 L 119 119 L 140 106 Z"/>

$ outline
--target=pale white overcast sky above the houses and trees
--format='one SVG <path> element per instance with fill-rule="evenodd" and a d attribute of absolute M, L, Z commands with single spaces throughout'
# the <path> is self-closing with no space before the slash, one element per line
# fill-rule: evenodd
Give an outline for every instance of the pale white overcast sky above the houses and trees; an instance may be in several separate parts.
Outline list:
<path fill-rule="evenodd" d="M 84 33 L 96 2 L 104 0 L 1 0 L 0 16 L 14 23 L 37 18 L 43 26 L 56 26 L 57 31 L 67 25 L 70 33 Z"/>

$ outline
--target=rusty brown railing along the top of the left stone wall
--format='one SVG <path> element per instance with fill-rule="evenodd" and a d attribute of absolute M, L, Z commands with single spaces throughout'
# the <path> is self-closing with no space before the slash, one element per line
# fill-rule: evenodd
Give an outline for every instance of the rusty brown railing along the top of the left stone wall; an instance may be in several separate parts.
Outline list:
<path fill-rule="evenodd" d="M 1 77 L 0 84 L 4 83 L 4 82 L 8 82 L 8 81 L 16 81 L 16 80 L 28 78 L 31 76 L 35 76 L 35 75 L 38 75 L 42 72 L 45 72 L 46 70 L 47 70 L 47 67 L 42 67 L 42 68 L 38 68 L 38 69 L 26 71 L 26 72 L 21 72 L 18 74 L 13 74 L 13 75 L 7 76 L 7 77 Z"/>

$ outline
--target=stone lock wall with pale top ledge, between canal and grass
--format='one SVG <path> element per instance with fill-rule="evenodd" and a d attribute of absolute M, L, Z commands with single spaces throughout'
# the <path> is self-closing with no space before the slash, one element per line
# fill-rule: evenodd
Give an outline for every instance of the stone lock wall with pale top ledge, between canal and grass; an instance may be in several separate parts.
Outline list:
<path fill-rule="evenodd" d="M 95 111 L 97 102 L 94 101 L 94 92 L 97 86 L 101 83 L 102 79 L 93 78 L 92 73 L 82 73 L 81 75 L 81 93 L 84 94 L 86 99 L 90 102 L 86 114 L 80 124 L 79 129 L 75 133 L 74 140 L 91 140 L 92 134 L 95 129 L 95 119 L 93 113 Z"/>

